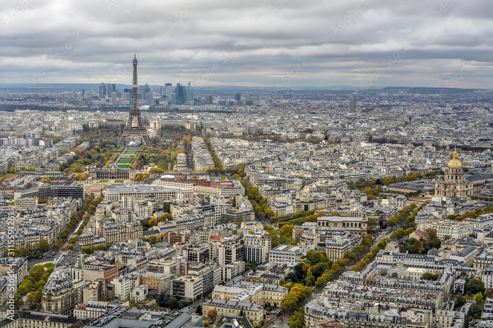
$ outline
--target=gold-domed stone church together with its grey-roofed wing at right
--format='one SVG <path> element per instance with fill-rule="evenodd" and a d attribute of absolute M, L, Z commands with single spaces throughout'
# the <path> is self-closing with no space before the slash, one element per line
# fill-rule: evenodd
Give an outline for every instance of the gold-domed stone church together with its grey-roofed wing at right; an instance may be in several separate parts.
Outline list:
<path fill-rule="evenodd" d="M 435 182 L 436 196 L 468 197 L 482 192 L 487 180 L 493 179 L 493 175 L 478 172 L 464 173 L 462 163 L 458 159 L 457 149 L 454 156 L 447 164 L 445 176 Z"/>

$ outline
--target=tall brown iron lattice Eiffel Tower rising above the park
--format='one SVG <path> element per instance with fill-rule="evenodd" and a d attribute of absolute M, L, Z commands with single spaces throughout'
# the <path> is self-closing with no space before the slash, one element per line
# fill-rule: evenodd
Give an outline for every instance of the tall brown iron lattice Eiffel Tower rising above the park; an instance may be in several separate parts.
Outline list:
<path fill-rule="evenodd" d="M 132 61 L 134 65 L 134 73 L 132 76 L 132 105 L 130 106 L 130 113 L 128 115 L 127 125 L 123 129 L 123 134 L 118 141 L 118 146 L 121 146 L 125 141 L 132 137 L 140 137 L 142 143 L 146 145 L 150 143 L 149 136 L 147 135 L 144 125 L 142 124 L 141 109 L 139 108 L 139 88 L 137 86 L 137 57 L 134 55 L 134 60 Z M 134 119 L 137 121 L 137 125 L 133 127 L 132 122 Z"/>

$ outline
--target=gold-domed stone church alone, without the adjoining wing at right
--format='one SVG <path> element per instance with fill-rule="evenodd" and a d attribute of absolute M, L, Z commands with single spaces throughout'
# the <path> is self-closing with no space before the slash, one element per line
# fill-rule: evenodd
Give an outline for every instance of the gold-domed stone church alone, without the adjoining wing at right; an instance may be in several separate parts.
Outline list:
<path fill-rule="evenodd" d="M 474 190 L 474 182 L 477 181 L 470 181 L 469 177 L 464 178 L 464 169 L 462 168 L 462 163 L 457 157 L 457 149 L 455 149 L 454 156 L 449 161 L 449 164 L 447 164 L 447 171 L 445 172 L 444 178 L 435 183 L 435 195 L 467 197 L 468 195 L 478 192 Z"/>

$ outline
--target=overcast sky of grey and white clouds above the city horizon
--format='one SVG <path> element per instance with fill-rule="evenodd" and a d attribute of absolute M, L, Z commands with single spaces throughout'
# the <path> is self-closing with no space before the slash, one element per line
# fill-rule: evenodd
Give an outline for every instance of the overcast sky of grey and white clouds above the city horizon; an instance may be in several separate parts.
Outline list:
<path fill-rule="evenodd" d="M 1 0 L 0 83 L 492 88 L 492 0 Z"/>

